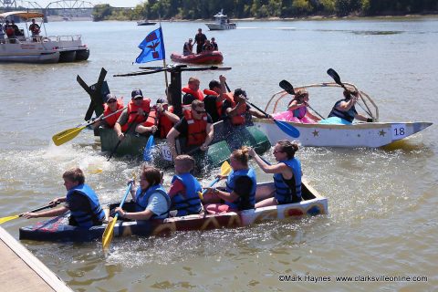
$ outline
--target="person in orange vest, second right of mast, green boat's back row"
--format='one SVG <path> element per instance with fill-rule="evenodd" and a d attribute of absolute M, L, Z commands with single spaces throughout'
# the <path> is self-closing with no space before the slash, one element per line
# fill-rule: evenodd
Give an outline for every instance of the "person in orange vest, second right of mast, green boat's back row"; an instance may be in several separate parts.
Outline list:
<path fill-rule="evenodd" d="M 212 117 L 213 122 L 222 120 L 222 104 L 224 103 L 226 89 L 225 77 L 219 76 L 219 81 L 212 80 L 208 84 L 209 89 L 203 89 L 203 105 L 207 113 Z M 229 97 L 230 98 L 230 97 Z"/>

